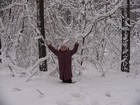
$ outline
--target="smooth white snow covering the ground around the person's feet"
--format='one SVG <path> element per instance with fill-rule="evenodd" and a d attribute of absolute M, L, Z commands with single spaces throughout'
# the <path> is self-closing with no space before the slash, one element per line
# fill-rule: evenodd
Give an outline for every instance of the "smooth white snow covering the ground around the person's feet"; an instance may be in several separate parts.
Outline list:
<path fill-rule="evenodd" d="M 64 84 L 58 77 L 12 77 L 0 71 L 0 103 L 3 105 L 140 105 L 140 77 L 109 71 L 84 70 L 78 81 Z M 2 105 L 2 104 L 0 104 Z"/>

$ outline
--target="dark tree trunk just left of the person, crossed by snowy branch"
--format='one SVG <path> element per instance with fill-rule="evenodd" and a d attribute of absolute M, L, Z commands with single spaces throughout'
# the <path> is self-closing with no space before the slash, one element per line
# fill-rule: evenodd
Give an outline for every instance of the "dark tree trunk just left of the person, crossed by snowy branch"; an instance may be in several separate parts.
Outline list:
<path fill-rule="evenodd" d="M 39 45 L 39 58 L 46 56 L 46 47 L 44 45 L 45 29 L 44 29 L 44 0 L 36 0 L 37 3 L 37 25 L 40 31 L 41 37 L 38 40 Z M 47 71 L 47 60 L 43 61 L 39 68 L 41 71 Z"/>

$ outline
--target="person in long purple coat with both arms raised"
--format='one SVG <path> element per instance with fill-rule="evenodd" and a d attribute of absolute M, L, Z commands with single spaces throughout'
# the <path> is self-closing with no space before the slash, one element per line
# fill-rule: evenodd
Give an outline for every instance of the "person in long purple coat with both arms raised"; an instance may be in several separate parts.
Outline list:
<path fill-rule="evenodd" d="M 73 50 L 69 50 L 66 44 L 62 44 L 59 50 L 48 44 L 48 42 L 46 42 L 46 45 L 58 57 L 60 79 L 64 83 L 72 83 L 72 55 L 78 50 L 78 42 L 75 43 Z"/>

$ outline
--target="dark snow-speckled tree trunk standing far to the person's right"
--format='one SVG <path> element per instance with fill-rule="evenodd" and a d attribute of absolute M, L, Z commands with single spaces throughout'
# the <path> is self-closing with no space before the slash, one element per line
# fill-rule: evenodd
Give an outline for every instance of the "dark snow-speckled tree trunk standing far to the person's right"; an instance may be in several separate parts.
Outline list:
<path fill-rule="evenodd" d="M 122 8 L 122 54 L 121 70 L 130 72 L 130 1 Z"/>

